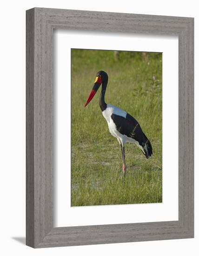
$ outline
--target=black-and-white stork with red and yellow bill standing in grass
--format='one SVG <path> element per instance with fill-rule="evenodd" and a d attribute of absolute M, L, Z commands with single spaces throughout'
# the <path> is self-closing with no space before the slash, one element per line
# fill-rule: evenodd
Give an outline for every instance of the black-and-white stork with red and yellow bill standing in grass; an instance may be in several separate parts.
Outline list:
<path fill-rule="evenodd" d="M 122 170 L 126 174 L 125 162 L 125 144 L 126 142 L 135 143 L 148 159 L 153 155 L 152 146 L 146 135 L 143 133 L 138 121 L 126 111 L 113 105 L 106 104 L 105 93 L 108 83 L 108 75 L 105 71 L 99 71 L 96 75 L 93 89 L 88 96 L 85 107 L 93 99 L 100 85 L 102 84 L 101 94 L 99 97 L 99 107 L 108 123 L 110 133 L 119 141 L 122 151 Z"/>

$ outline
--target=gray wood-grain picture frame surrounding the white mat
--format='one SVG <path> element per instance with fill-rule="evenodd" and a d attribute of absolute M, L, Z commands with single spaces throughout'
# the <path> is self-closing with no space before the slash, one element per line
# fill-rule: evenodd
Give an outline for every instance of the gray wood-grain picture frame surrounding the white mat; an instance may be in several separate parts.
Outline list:
<path fill-rule="evenodd" d="M 53 29 L 179 36 L 178 221 L 53 227 Z M 33 248 L 192 238 L 193 18 L 27 10 L 26 182 L 27 245 Z"/>

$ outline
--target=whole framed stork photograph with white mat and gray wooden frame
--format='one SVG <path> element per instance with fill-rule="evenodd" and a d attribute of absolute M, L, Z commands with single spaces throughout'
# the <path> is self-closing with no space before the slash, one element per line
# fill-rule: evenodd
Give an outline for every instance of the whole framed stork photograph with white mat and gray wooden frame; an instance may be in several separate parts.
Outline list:
<path fill-rule="evenodd" d="M 192 238 L 193 18 L 27 10 L 27 245 Z"/>

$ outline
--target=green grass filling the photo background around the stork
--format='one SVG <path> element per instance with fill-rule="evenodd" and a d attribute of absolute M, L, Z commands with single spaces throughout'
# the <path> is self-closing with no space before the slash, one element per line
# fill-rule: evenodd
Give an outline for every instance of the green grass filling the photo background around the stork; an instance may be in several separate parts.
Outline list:
<path fill-rule="evenodd" d="M 162 54 L 147 56 L 72 50 L 72 206 L 162 202 Z M 84 108 L 99 70 L 109 76 L 106 103 L 133 115 L 153 147 L 147 160 L 136 145 L 126 143 L 125 179 L 120 146 L 99 108 L 99 92 Z"/>

